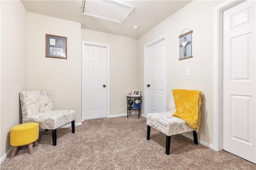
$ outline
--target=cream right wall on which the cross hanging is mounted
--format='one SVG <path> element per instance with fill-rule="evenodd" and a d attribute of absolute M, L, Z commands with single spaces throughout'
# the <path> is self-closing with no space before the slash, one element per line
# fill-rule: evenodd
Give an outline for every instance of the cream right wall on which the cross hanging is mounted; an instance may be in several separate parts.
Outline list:
<path fill-rule="evenodd" d="M 192 1 L 158 24 L 138 40 L 138 63 L 144 62 L 144 45 L 166 34 L 167 101 L 172 89 L 194 89 L 204 94 L 198 139 L 213 144 L 212 32 L 213 7 L 222 1 Z M 192 33 L 193 58 L 179 61 L 179 36 L 188 28 Z M 190 76 L 186 76 L 190 69 Z M 138 88 L 144 89 L 144 65 L 138 67 Z M 169 103 L 166 109 L 169 108 Z M 192 133 L 188 133 L 192 136 Z"/>

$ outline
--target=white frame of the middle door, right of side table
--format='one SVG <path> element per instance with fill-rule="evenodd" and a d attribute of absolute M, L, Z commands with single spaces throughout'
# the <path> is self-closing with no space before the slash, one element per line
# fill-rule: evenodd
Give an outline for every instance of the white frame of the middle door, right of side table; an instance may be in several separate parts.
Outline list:
<path fill-rule="evenodd" d="M 155 45 L 156 43 L 162 42 L 164 41 L 164 53 L 165 53 L 165 57 L 164 57 L 164 63 L 166 63 L 166 34 L 156 38 L 155 40 L 152 40 L 151 42 L 148 42 L 144 45 L 144 117 L 147 117 L 148 114 L 148 48 L 151 47 L 152 45 Z M 165 94 L 164 94 L 164 105 L 166 106 L 166 81 L 167 81 L 167 71 L 166 71 L 166 65 L 164 66 L 164 72 L 166 74 L 165 77 L 165 85 L 164 85 L 164 90 L 165 90 Z M 167 108 L 167 106 L 166 106 Z"/>

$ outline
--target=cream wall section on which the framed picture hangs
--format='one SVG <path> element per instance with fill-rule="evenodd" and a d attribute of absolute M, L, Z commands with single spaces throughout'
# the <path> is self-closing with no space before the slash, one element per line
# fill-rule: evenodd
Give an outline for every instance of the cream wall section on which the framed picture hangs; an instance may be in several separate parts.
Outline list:
<path fill-rule="evenodd" d="M 45 57 L 45 34 L 67 37 L 67 59 Z M 28 90 L 51 91 L 54 109 L 81 123 L 81 24 L 28 12 Z"/>

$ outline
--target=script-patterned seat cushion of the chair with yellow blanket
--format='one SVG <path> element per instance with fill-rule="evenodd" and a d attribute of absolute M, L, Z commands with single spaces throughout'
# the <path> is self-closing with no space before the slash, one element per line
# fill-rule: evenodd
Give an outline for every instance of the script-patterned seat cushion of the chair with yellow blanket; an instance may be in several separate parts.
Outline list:
<path fill-rule="evenodd" d="M 178 117 L 172 116 L 173 112 L 148 113 L 147 125 L 162 132 L 167 136 L 191 132 L 196 130 Z"/>

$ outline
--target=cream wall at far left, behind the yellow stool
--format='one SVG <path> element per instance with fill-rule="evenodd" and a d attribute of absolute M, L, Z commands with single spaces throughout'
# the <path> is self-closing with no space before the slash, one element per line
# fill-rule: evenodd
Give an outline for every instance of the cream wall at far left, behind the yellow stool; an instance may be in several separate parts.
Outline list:
<path fill-rule="evenodd" d="M 27 89 L 27 12 L 20 1 L 1 1 L 1 160 L 10 130 L 20 124 L 19 92 Z"/>

